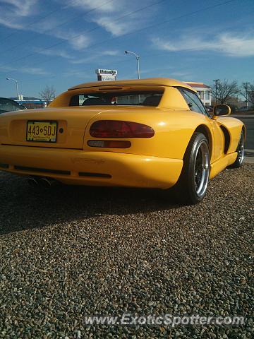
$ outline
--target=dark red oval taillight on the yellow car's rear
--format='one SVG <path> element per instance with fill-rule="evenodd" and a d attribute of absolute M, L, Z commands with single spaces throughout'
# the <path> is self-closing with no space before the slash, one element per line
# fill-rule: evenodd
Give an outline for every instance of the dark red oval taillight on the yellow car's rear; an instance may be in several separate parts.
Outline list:
<path fill-rule="evenodd" d="M 152 138 L 152 127 L 131 121 L 100 120 L 90 127 L 90 135 L 95 138 Z"/>

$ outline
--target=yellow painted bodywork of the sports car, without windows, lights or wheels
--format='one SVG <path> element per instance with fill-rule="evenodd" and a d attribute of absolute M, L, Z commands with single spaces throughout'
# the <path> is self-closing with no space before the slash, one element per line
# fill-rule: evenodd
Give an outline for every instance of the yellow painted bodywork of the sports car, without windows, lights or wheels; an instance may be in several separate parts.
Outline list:
<path fill-rule="evenodd" d="M 210 178 L 236 160 L 244 128 L 231 117 L 212 119 L 191 110 L 167 78 L 85 83 L 62 93 L 46 109 L 0 115 L 0 169 L 20 175 L 51 177 L 66 184 L 135 186 L 167 189 L 178 181 L 193 133 L 205 133 L 210 145 Z M 80 93 L 162 90 L 157 107 L 142 105 L 70 106 Z M 100 120 L 131 121 L 150 126 L 152 138 L 121 138 L 129 148 L 90 147 L 90 127 Z M 28 121 L 57 121 L 56 143 L 27 141 Z M 103 138 L 104 141 L 112 138 Z"/>

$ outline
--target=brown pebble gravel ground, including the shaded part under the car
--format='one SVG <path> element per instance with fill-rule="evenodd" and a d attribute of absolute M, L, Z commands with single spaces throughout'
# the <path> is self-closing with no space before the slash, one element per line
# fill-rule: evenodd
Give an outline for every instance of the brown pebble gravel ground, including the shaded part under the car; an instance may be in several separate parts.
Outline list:
<path fill-rule="evenodd" d="M 254 338 L 254 165 L 203 203 L 0 172 L 0 338 Z M 240 327 L 85 326 L 89 314 L 246 316 Z"/>

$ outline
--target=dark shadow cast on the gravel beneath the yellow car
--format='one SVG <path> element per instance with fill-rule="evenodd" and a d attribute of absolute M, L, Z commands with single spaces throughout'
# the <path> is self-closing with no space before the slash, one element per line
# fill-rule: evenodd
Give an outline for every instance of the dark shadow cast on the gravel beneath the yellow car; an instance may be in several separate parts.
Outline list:
<path fill-rule="evenodd" d="M 175 208 L 161 190 L 58 185 L 34 189 L 25 179 L 0 175 L 0 234 L 97 215 L 150 213 Z"/>

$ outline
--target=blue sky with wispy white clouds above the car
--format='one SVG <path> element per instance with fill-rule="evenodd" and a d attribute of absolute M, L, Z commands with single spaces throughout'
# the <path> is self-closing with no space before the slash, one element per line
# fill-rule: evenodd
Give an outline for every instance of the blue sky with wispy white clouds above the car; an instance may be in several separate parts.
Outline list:
<path fill-rule="evenodd" d="M 165 76 L 254 82 L 254 0 L 0 0 L 0 96 L 59 94 L 95 81 Z"/>

